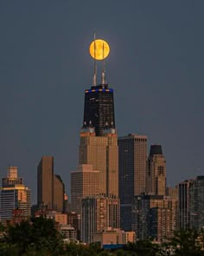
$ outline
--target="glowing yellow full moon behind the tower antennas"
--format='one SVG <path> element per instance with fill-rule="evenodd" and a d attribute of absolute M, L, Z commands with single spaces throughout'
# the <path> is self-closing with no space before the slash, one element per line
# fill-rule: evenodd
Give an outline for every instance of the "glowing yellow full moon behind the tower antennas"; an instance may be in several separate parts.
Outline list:
<path fill-rule="evenodd" d="M 93 59 L 101 61 L 109 55 L 110 47 L 105 40 L 97 39 L 90 44 L 89 52 Z"/>

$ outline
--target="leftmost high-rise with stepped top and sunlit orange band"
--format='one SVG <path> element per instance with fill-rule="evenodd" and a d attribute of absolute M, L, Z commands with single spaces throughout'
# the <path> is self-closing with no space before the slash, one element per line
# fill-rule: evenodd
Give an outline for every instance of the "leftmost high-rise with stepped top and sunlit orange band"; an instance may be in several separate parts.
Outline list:
<path fill-rule="evenodd" d="M 25 187 L 22 178 L 17 176 L 17 167 L 9 167 L 7 177 L 2 180 L 0 190 L 1 220 L 11 220 L 13 210 L 23 211 L 23 218 L 30 217 L 31 192 Z"/>

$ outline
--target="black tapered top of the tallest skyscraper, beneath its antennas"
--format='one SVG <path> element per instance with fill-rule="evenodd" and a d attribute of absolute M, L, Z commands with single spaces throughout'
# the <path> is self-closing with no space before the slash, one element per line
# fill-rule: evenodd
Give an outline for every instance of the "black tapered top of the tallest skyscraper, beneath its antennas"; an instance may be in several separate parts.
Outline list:
<path fill-rule="evenodd" d="M 95 128 L 97 136 L 105 128 L 115 128 L 113 89 L 108 84 L 92 86 L 85 91 L 84 126 Z"/>

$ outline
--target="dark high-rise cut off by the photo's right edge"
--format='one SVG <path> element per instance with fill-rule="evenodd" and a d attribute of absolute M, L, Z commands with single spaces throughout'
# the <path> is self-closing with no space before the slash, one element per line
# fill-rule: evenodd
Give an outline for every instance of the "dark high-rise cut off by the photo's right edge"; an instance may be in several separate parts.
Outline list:
<path fill-rule="evenodd" d="M 204 227 L 204 176 L 197 176 L 189 187 L 190 228 Z"/>

